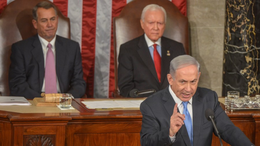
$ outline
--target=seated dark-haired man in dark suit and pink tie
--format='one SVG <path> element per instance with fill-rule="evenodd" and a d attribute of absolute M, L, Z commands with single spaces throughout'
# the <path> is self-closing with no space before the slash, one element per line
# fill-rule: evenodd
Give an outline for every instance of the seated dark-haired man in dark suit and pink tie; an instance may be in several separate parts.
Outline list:
<path fill-rule="evenodd" d="M 80 98 L 86 90 L 79 43 L 56 35 L 56 7 L 47 1 L 33 8 L 38 34 L 12 45 L 9 88 L 12 96 L 28 99 L 45 93 L 71 93 Z"/>

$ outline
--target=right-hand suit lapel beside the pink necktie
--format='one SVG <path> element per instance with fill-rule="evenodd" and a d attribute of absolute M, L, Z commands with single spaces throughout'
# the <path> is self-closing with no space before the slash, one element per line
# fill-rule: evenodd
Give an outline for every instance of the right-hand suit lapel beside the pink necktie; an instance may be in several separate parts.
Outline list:
<path fill-rule="evenodd" d="M 56 74 L 58 77 L 59 81 L 59 86 L 61 92 L 63 92 L 63 84 L 61 84 L 60 77 L 62 76 L 62 70 L 64 68 L 64 62 L 66 59 L 66 51 L 67 48 L 63 46 L 62 41 L 59 39 L 59 36 L 56 36 L 56 41 L 55 41 L 55 56 L 56 56 Z M 57 65 L 59 64 L 59 65 Z"/>

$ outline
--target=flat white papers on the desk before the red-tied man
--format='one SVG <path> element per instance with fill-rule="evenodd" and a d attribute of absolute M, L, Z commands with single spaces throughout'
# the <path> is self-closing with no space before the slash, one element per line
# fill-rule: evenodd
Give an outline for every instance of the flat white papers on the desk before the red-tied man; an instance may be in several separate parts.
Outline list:
<path fill-rule="evenodd" d="M 144 100 L 103 100 L 103 101 L 82 101 L 87 108 L 140 108 Z"/>

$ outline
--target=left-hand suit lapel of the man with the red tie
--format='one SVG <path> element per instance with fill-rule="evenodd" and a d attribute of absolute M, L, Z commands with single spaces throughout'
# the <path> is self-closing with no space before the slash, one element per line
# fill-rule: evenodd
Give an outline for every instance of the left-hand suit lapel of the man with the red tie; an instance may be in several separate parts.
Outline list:
<path fill-rule="evenodd" d="M 154 66 L 154 63 L 153 63 L 153 59 L 150 55 L 150 51 L 149 51 L 148 46 L 146 44 L 144 35 L 142 35 L 140 37 L 140 40 L 138 42 L 138 47 L 139 48 L 137 49 L 137 52 L 138 52 L 140 58 L 142 58 L 144 64 L 148 67 L 148 69 L 151 71 L 152 75 L 155 77 L 155 79 L 159 83 L 157 73 L 156 73 L 156 70 L 155 70 L 155 66 Z"/>

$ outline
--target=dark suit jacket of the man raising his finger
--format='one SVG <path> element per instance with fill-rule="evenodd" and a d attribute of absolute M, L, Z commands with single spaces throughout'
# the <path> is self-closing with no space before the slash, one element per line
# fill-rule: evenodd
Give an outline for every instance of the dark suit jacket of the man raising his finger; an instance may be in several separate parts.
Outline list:
<path fill-rule="evenodd" d="M 170 117 L 175 102 L 165 88 L 144 100 L 140 105 L 142 112 L 142 129 L 140 132 L 142 146 L 191 146 L 185 125 L 176 134 L 174 143 L 170 142 Z M 221 138 L 232 146 L 253 145 L 244 133 L 236 127 L 222 110 L 215 91 L 198 87 L 192 97 L 193 111 L 193 146 L 211 146 L 213 124 L 205 118 L 205 110 L 211 108 Z M 178 110 L 179 112 L 179 110 Z M 215 133 L 216 135 L 216 133 Z"/>

